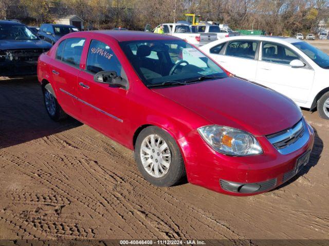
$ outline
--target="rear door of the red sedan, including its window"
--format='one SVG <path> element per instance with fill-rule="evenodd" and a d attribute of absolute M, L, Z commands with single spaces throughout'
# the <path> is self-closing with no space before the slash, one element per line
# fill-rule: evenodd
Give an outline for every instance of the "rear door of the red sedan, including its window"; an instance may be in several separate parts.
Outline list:
<path fill-rule="evenodd" d="M 58 46 L 56 59 L 51 64 L 51 81 L 57 90 L 58 101 L 65 112 L 79 118 L 77 107 L 77 76 L 84 38 L 67 38 Z"/>

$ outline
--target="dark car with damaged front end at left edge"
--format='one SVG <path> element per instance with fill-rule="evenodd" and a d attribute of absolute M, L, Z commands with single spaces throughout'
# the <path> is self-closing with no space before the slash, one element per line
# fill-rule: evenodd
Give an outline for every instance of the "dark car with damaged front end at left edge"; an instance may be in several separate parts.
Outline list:
<path fill-rule="evenodd" d="M 36 74 L 39 55 L 50 48 L 27 26 L 0 20 L 0 76 Z"/>

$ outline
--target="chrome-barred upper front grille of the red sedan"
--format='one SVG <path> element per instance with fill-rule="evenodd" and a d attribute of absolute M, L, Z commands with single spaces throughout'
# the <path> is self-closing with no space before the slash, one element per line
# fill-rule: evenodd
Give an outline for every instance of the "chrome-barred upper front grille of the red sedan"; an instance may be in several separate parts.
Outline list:
<path fill-rule="evenodd" d="M 295 126 L 275 134 L 267 135 L 266 137 L 274 147 L 282 150 L 295 144 L 304 135 L 304 132 L 303 120 L 300 120 Z"/>

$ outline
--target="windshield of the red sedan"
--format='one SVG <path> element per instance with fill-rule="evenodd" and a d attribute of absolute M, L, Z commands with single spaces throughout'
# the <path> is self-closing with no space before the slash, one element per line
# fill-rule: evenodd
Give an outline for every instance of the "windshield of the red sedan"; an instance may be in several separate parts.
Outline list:
<path fill-rule="evenodd" d="M 210 58 L 183 40 L 129 41 L 120 46 L 146 86 L 227 77 Z"/>

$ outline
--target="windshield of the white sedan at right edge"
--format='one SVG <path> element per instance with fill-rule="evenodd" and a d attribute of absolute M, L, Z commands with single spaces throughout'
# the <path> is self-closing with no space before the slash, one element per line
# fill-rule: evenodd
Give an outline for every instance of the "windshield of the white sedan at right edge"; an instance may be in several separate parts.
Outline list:
<path fill-rule="evenodd" d="M 293 43 L 293 45 L 303 51 L 321 68 L 329 69 L 329 55 L 306 42 L 297 42 Z"/>

